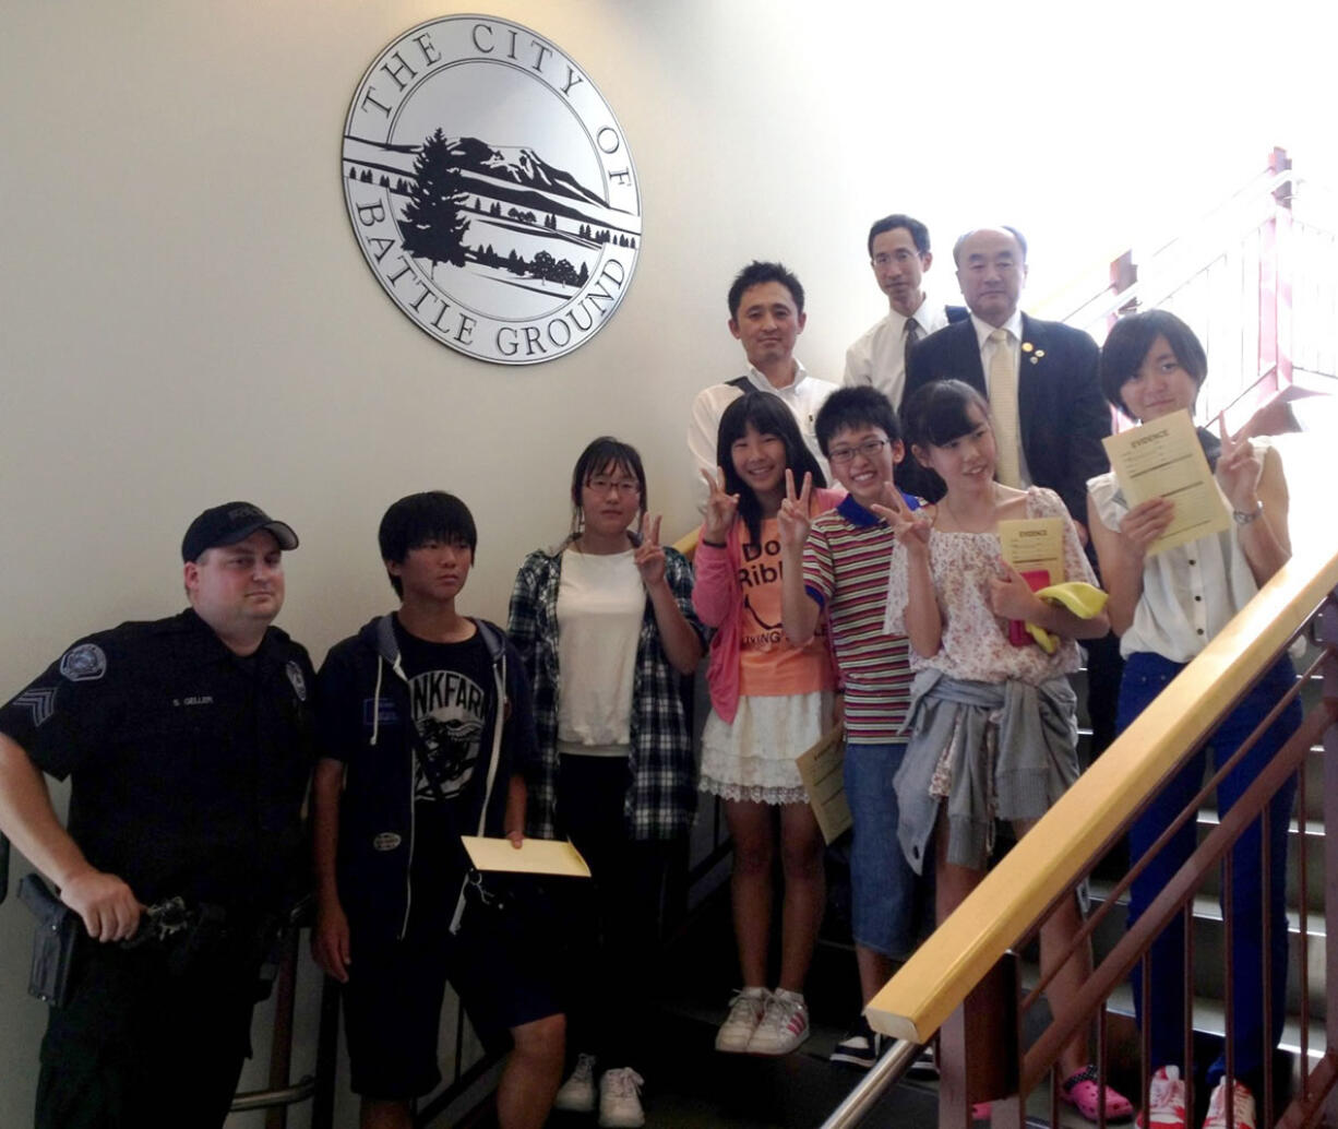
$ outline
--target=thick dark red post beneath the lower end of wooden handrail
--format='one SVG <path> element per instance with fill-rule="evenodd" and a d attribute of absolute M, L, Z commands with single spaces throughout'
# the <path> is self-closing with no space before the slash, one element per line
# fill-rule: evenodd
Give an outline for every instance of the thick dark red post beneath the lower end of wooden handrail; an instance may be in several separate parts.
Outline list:
<path fill-rule="evenodd" d="M 939 1030 L 939 1129 L 969 1129 L 974 1102 L 1017 1093 L 1017 955 L 1006 952 Z"/>

